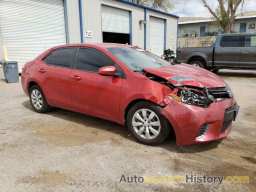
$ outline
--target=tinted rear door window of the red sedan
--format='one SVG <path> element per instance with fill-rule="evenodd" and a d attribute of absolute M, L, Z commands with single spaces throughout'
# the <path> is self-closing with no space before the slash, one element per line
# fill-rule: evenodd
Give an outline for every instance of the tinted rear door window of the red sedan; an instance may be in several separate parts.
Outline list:
<path fill-rule="evenodd" d="M 73 62 L 74 50 L 74 48 L 62 48 L 53 51 L 50 59 L 50 65 L 69 68 Z"/>

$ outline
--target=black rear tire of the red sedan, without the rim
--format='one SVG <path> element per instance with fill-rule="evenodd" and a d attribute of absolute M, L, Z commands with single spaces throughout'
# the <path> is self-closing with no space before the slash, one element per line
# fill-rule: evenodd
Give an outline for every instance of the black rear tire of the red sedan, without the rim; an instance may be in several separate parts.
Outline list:
<path fill-rule="evenodd" d="M 37 90 L 38 92 L 40 92 L 41 96 L 42 96 L 42 107 L 40 109 L 37 109 L 34 104 L 32 103 L 32 91 L 33 90 Z M 48 112 L 49 110 L 51 110 L 51 106 L 48 105 L 47 101 L 46 101 L 46 98 L 44 96 L 44 92 L 42 91 L 42 89 L 40 88 L 40 86 L 38 85 L 33 85 L 30 90 L 29 90 L 29 98 L 30 98 L 30 104 L 31 106 L 33 107 L 33 109 L 38 112 L 38 113 L 46 113 Z"/>

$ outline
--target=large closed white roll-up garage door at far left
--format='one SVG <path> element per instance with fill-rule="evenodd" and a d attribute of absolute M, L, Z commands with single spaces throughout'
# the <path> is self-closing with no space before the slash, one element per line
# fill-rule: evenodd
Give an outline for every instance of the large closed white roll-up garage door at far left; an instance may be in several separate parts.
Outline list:
<path fill-rule="evenodd" d="M 10 61 L 24 64 L 53 46 L 66 44 L 63 0 L 0 0 L 2 43 Z"/>

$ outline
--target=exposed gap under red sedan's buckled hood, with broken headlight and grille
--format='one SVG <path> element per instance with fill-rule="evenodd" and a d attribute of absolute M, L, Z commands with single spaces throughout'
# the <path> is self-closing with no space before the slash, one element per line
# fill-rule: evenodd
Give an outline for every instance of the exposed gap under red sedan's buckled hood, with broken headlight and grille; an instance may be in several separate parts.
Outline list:
<path fill-rule="evenodd" d="M 168 97 L 176 99 L 178 102 L 207 108 L 212 102 L 218 102 L 224 98 L 230 98 L 232 92 L 228 85 L 222 88 L 206 88 L 204 86 L 174 86 L 168 80 L 151 73 L 145 73 L 150 80 L 164 84 L 171 88 L 172 92 Z M 184 78 L 185 79 L 185 78 Z M 186 78 L 187 79 L 187 78 Z"/>

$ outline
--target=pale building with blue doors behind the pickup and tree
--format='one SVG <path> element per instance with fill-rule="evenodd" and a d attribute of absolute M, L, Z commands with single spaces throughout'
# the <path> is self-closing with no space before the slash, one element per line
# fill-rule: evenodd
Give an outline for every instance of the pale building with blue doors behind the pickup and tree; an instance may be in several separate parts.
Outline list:
<path fill-rule="evenodd" d="M 242 15 L 237 14 L 234 24 L 232 25 L 232 33 L 250 33 L 256 32 L 256 12 L 244 12 Z M 216 36 L 223 30 L 214 25 L 211 18 L 193 18 L 186 17 L 179 19 L 178 38 L 180 37 L 204 37 Z"/>

